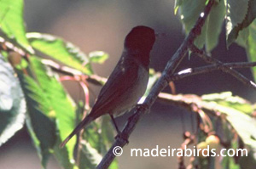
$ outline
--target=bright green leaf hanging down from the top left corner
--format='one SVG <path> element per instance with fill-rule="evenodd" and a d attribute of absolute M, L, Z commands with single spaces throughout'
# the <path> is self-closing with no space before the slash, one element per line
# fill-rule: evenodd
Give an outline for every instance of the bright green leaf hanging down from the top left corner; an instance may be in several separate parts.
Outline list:
<path fill-rule="evenodd" d="M 0 1 L 0 26 L 9 37 L 14 38 L 21 47 L 33 54 L 34 51 L 26 39 L 26 30 L 23 20 L 23 0 Z"/>

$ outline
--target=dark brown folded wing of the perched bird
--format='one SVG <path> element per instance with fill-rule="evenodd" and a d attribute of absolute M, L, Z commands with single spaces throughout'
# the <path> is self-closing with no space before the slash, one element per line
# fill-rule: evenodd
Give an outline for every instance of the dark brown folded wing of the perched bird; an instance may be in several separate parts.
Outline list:
<path fill-rule="evenodd" d="M 91 116 L 97 118 L 100 115 L 111 113 L 109 112 L 114 105 L 118 105 L 120 96 L 125 92 L 130 91 L 134 83 L 137 82 L 138 65 L 134 61 L 126 60 L 129 67 L 123 67 L 123 64 L 118 64 L 108 78 L 108 82 L 102 87 L 101 92 L 91 110 Z M 118 103 L 117 103 L 118 102 Z"/>

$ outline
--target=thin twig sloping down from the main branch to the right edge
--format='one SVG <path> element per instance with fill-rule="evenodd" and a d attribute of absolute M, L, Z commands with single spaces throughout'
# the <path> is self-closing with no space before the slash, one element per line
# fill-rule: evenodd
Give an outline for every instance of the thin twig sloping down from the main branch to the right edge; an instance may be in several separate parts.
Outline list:
<path fill-rule="evenodd" d="M 201 57 L 201 59 L 204 59 L 207 63 L 216 64 L 216 65 L 224 65 L 218 59 L 214 59 L 211 56 L 209 56 L 204 50 L 201 50 L 201 49 L 195 47 L 194 44 L 192 44 L 189 48 L 190 48 L 191 52 L 197 54 L 199 57 Z M 236 77 L 237 80 L 241 81 L 247 87 L 252 87 L 254 90 L 256 90 L 256 84 L 253 81 L 250 81 L 249 79 L 247 79 L 247 77 L 241 75 L 241 73 L 239 73 L 238 71 L 233 70 L 232 68 L 230 68 L 228 66 L 222 66 L 220 70 L 224 71 L 225 73 L 229 73 L 231 76 Z"/>

